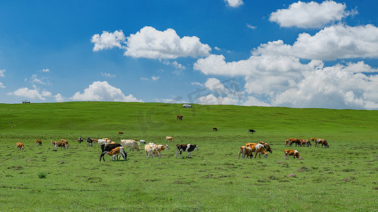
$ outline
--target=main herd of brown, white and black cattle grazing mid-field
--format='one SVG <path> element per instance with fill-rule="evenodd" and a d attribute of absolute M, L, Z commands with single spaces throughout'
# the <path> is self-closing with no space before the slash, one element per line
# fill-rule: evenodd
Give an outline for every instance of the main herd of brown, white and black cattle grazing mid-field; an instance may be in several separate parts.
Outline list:
<path fill-rule="evenodd" d="M 123 134 L 123 132 L 118 132 L 118 134 Z M 77 141 L 79 143 L 82 143 L 83 142 L 82 137 L 80 136 L 80 138 Z M 174 139 L 172 136 L 166 136 L 165 141 L 174 142 Z M 285 141 L 285 147 L 287 146 L 291 147 L 294 144 L 295 146 L 309 147 L 311 146 L 311 141 L 315 143 L 316 147 L 320 147 L 321 145 L 322 148 L 323 146 L 325 146 L 326 148 L 329 148 L 329 145 L 326 139 L 315 139 L 315 138 L 311 138 L 310 140 L 288 139 Z M 87 138 L 87 147 L 92 147 L 94 142 L 98 143 L 99 146 L 101 146 L 100 161 L 101 161 L 101 158 L 105 161 L 104 155 L 111 155 L 112 160 L 114 159 L 119 160 L 121 157 L 123 157 L 123 159 L 126 160 L 127 152 L 125 151 L 125 149 L 130 148 L 129 152 L 134 151 L 134 150 L 140 151 L 139 145 L 143 145 L 143 144 L 145 145 L 144 146 L 145 156 L 147 158 L 153 158 L 154 155 L 157 156 L 157 158 L 160 158 L 162 151 L 165 151 L 165 149 L 167 150 L 169 149 L 168 144 L 157 145 L 155 143 L 147 143 L 145 140 L 137 141 L 135 139 L 121 140 L 121 143 L 116 143 L 114 141 L 111 141 L 111 139 L 109 138 L 103 138 L 103 139 Z M 67 149 L 70 147 L 70 144 L 65 139 L 60 139 L 60 141 L 51 141 L 50 143 L 51 143 L 51 146 L 54 146 L 55 151 L 58 148 L 62 150 L 63 148 Z M 17 151 L 24 149 L 23 143 L 16 143 L 16 146 L 17 146 Z M 42 141 L 40 141 L 39 139 L 35 140 L 35 146 L 42 146 Z M 180 153 L 182 158 L 184 158 L 184 156 L 182 155 L 183 151 L 188 153 L 187 158 L 191 158 L 191 152 L 194 150 L 197 150 L 197 151 L 199 150 L 198 145 L 196 144 L 193 145 L 190 143 L 177 144 L 176 149 L 177 151 L 176 151 L 175 158 L 177 158 L 177 153 Z M 265 143 L 263 141 L 260 141 L 260 143 L 245 143 L 245 146 L 240 146 L 239 148 L 238 159 L 240 159 L 240 155 L 243 159 L 252 158 L 253 157 L 252 153 L 255 153 L 255 158 L 257 154 L 259 154 L 259 158 L 261 157 L 261 155 L 263 155 L 264 158 L 267 158 L 268 153 L 272 153 L 272 148 L 270 148 L 268 143 Z M 296 150 L 286 149 L 284 151 L 284 158 L 287 159 L 289 155 L 292 155 L 294 159 L 295 158 L 301 159 L 301 156 L 299 156 L 299 152 Z"/>

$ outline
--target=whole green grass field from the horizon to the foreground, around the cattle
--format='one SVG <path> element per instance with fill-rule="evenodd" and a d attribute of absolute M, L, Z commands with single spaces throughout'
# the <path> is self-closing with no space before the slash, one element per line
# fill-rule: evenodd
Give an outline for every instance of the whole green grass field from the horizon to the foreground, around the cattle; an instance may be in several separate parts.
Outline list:
<path fill-rule="evenodd" d="M 377 120 L 369 110 L 0 104 L 1 211 L 377 211 Z M 126 161 L 99 162 L 99 146 L 79 144 L 79 136 L 175 142 L 160 159 L 131 151 Z M 327 139 L 330 148 L 292 147 L 304 160 L 284 160 L 290 137 Z M 59 139 L 70 142 L 67 151 L 50 146 Z M 271 144 L 267 159 L 238 160 L 240 146 L 259 141 Z M 176 143 L 199 151 L 176 159 Z"/>

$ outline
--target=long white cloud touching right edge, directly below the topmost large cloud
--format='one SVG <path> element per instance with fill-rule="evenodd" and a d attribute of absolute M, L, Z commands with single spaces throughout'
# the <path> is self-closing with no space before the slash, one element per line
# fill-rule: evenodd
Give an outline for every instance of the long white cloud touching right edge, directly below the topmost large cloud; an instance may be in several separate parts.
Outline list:
<path fill-rule="evenodd" d="M 378 28 L 374 25 L 333 25 L 313 36 L 301 33 L 292 46 L 284 44 L 282 40 L 262 44 L 253 49 L 252 54 L 290 55 L 320 60 L 377 58 L 377 40 Z"/>

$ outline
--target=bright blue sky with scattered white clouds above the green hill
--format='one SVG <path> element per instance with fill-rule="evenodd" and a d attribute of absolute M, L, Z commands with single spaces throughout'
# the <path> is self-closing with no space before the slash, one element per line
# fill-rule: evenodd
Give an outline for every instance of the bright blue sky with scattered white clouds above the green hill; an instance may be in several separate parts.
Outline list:
<path fill-rule="evenodd" d="M 0 1 L 0 102 L 378 109 L 377 1 Z"/>

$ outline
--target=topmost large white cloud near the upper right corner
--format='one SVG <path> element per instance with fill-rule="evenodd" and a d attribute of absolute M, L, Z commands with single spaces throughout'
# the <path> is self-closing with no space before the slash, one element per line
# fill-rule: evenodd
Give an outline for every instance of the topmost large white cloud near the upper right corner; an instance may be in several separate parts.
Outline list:
<path fill-rule="evenodd" d="M 308 3 L 298 1 L 286 9 L 279 9 L 272 13 L 269 20 L 277 22 L 281 27 L 298 28 L 321 28 L 328 23 L 340 21 L 346 16 L 357 13 L 356 11 L 345 11 L 345 4 L 335 1 L 323 1 L 318 4 L 311 1 Z"/>

